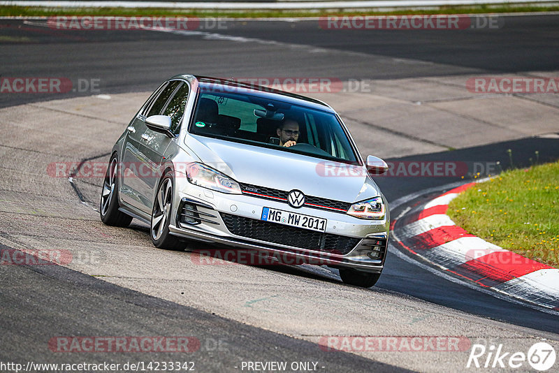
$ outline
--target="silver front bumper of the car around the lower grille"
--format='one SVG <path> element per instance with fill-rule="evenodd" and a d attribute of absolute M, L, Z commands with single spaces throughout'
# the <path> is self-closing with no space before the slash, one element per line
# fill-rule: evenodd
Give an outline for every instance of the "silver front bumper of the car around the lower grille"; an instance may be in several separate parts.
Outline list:
<path fill-rule="evenodd" d="M 274 200 L 219 193 L 189 183 L 183 184 L 178 191 L 173 203 L 174 224 L 169 225 L 173 235 L 264 251 L 275 258 L 294 258 L 298 264 L 354 268 L 375 273 L 382 272 L 384 268 L 389 232 L 388 209 L 383 220 L 364 220 L 310 207 L 294 209 Z M 327 219 L 326 232 L 261 221 L 263 207 Z"/>

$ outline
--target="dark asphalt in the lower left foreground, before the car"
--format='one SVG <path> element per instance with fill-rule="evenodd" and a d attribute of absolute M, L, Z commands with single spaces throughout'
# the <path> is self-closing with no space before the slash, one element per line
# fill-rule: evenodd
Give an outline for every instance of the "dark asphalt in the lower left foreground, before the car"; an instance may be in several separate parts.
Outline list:
<path fill-rule="evenodd" d="M 82 335 L 121 336 L 133 331 L 133 335 L 144 336 L 196 336 L 199 345 L 190 355 L 183 353 L 180 361 L 194 361 L 198 372 L 235 371 L 241 361 L 259 361 L 263 356 L 264 360 L 320 362 L 330 372 L 407 372 L 349 353 L 321 351 L 310 342 L 153 298 L 57 265 L 15 265 L 1 271 L 1 281 L 3 362 L 60 361 L 45 351 L 53 335 L 75 335 L 79 330 Z M 143 353 L 126 355 L 126 361 L 132 363 L 146 361 Z M 177 361 L 174 352 L 156 356 L 154 361 Z M 124 363 L 121 356 L 99 352 L 86 357 L 67 353 L 62 360 Z"/>

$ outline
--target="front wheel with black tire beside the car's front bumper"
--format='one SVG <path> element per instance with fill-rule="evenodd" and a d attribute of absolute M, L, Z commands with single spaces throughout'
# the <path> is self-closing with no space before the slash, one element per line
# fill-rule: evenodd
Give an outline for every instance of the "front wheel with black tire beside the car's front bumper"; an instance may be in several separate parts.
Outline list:
<path fill-rule="evenodd" d="M 155 247 L 168 250 L 182 250 L 186 243 L 169 233 L 169 224 L 173 217 L 173 196 L 175 180 L 173 172 L 167 171 L 157 186 L 157 193 L 152 207 L 150 236 Z"/>

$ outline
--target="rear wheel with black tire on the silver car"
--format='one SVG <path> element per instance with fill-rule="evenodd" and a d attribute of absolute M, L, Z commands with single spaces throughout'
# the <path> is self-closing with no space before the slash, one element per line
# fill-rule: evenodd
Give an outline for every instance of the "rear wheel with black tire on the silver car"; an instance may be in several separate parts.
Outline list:
<path fill-rule="evenodd" d="M 118 173 L 119 162 L 115 154 L 110 158 L 107 173 L 103 180 L 101 200 L 99 201 L 99 215 L 101 216 L 101 221 L 108 226 L 127 227 L 132 221 L 132 217 L 118 210 Z"/>

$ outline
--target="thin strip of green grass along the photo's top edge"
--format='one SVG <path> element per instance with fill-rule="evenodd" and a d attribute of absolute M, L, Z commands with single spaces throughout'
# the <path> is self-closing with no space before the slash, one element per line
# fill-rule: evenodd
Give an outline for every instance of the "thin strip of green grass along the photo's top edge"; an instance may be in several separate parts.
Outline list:
<path fill-rule="evenodd" d="M 441 7 L 433 10 L 188 10 L 166 8 L 47 8 L 38 6 L 0 6 L 0 16 L 50 16 L 50 15 L 122 15 L 122 16 L 173 16 L 173 17 L 321 17 L 326 15 L 408 15 L 408 14 L 474 14 L 551 12 L 559 6 L 474 6 Z"/>

